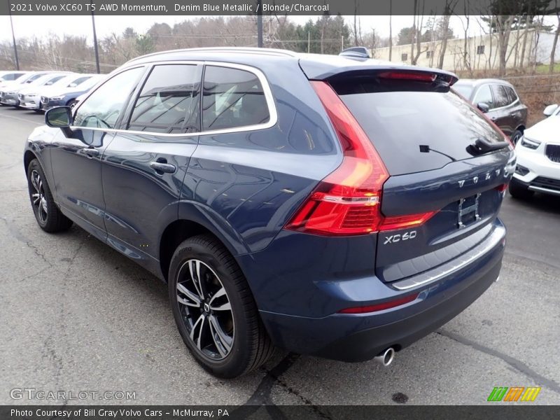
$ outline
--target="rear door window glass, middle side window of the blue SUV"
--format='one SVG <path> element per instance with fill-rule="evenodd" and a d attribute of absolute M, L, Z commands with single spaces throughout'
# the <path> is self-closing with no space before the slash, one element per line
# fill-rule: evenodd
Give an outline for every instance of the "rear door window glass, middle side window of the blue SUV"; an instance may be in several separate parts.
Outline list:
<path fill-rule="evenodd" d="M 200 131 L 200 66 L 155 66 L 132 110 L 129 130 L 185 133 Z"/>

